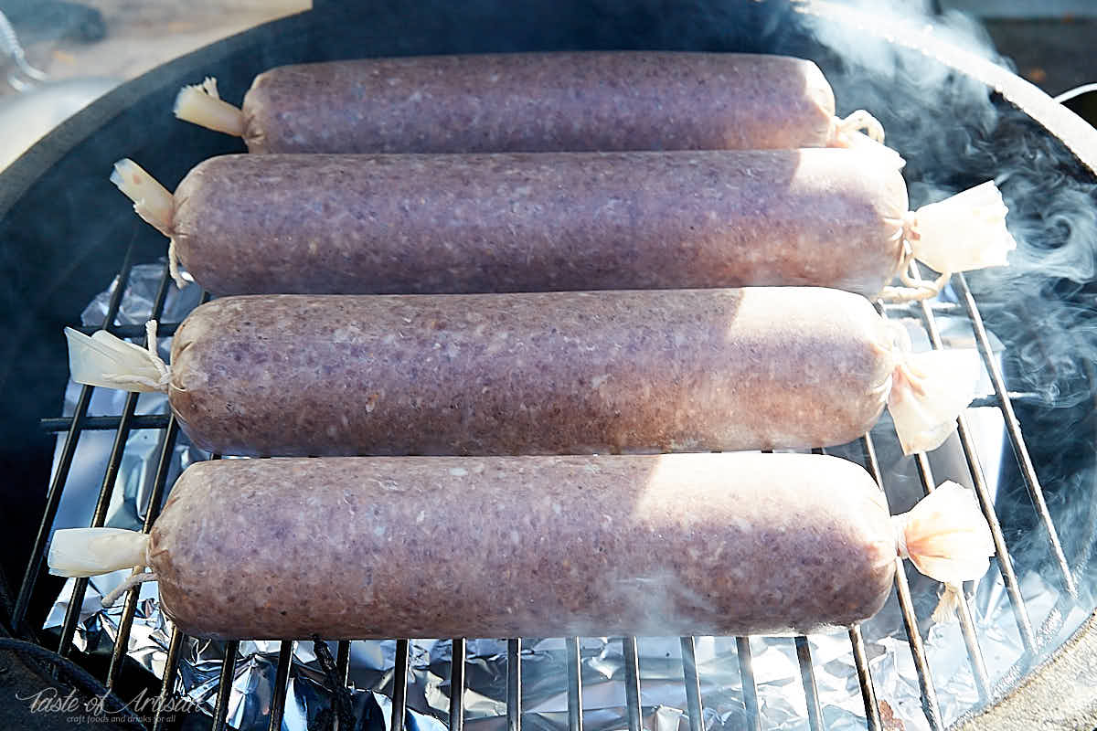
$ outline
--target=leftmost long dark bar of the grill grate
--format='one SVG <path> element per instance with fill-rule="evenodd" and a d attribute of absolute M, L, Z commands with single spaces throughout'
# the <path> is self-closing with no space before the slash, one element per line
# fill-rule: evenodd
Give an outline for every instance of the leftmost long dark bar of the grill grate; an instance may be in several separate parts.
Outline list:
<path fill-rule="evenodd" d="M 106 305 L 106 315 L 103 317 L 103 324 L 109 325 L 114 322 L 122 306 L 122 295 L 129 282 L 129 272 L 133 270 L 134 244 L 136 239 L 129 242 L 126 249 L 125 259 L 122 261 L 122 270 L 118 272 L 118 285 L 111 293 L 111 298 Z M 88 404 L 91 403 L 92 386 L 84 386 L 80 389 L 80 396 L 72 412 L 72 429 L 65 437 L 65 445 L 61 447 L 60 458 L 57 460 L 57 471 L 49 482 L 49 491 L 46 493 L 46 507 L 42 514 L 42 524 L 38 526 L 38 534 L 34 538 L 31 548 L 31 560 L 27 562 L 26 573 L 23 574 L 23 583 L 19 587 L 19 596 L 15 597 L 15 606 L 11 613 L 12 630 L 21 633 L 23 620 L 31 606 L 31 595 L 34 586 L 38 583 L 42 569 L 46 563 L 46 542 L 49 540 L 49 530 L 53 528 L 54 518 L 57 517 L 57 509 L 61 502 L 61 492 L 65 490 L 65 482 L 68 480 L 69 470 L 72 468 L 72 457 L 76 455 L 77 443 L 80 439 L 80 425 L 88 415 Z"/>

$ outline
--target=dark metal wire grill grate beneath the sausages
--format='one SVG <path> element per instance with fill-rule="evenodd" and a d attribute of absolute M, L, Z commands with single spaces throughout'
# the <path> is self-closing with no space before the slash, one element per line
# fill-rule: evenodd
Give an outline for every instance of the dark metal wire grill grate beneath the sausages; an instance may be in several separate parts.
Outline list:
<path fill-rule="evenodd" d="M 102 329 L 122 338 L 142 338 L 144 335 L 144 329 L 140 327 L 117 324 L 115 322 L 122 302 L 122 296 L 126 289 L 129 274 L 134 266 L 134 256 L 135 241 L 132 240 L 126 250 L 121 271 L 118 272 L 114 292 L 109 299 L 106 316 L 102 323 Z M 921 271 L 915 263 L 912 263 L 909 273 L 914 278 L 923 277 Z M 913 316 L 918 318 L 921 321 L 923 328 L 925 329 L 926 335 L 928 336 L 930 345 L 934 350 L 941 350 L 945 347 L 940 333 L 938 332 L 935 316 L 947 313 L 964 315 L 966 317 L 972 327 L 979 353 L 994 388 L 993 396 L 977 398 L 972 401 L 971 407 L 997 407 L 1002 412 L 1005 422 L 1006 435 L 1013 448 L 1013 454 L 1017 460 L 1017 466 L 1024 479 L 1025 487 L 1031 498 L 1039 523 L 1047 534 L 1045 537 L 1053 559 L 1053 568 L 1056 573 L 1055 578 L 1059 582 L 1059 587 L 1063 590 L 1060 594 L 1060 605 L 1064 605 L 1077 598 L 1077 587 L 1075 586 L 1074 578 L 1064 556 L 1058 532 L 1052 522 L 1047 502 L 1044 501 L 1043 490 L 1040 486 L 1039 478 L 1037 477 L 1032 459 L 1029 456 L 1028 448 L 1021 434 L 1020 423 L 1014 412 L 1013 406 L 1014 401 L 1025 402 L 1033 399 L 1033 395 L 1010 392 L 1006 389 L 1005 378 L 992 351 L 991 341 L 983 324 L 983 318 L 980 315 L 975 298 L 968 286 L 964 275 L 954 274 L 952 276 L 951 284 L 953 290 L 959 297 L 959 305 L 940 301 L 921 301 L 886 307 L 882 302 L 877 302 L 875 306 L 877 309 L 885 316 Z M 168 293 L 172 286 L 173 284 L 169 276 L 168 267 L 165 265 L 152 302 L 152 318 L 159 319 L 163 311 Z M 202 301 L 206 301 L 208 298 L 208 295 L 204 295 Z M 158 331 L 161 335 L 169 335 L 174 332 L 178 324 L 178 322 L 160 323 Z M 81 327 L 78 329 L 84 332 L 91 332 L 98 330 L 99 328 Z M 145 533 L 148 533 L 159 514 L 162 498 L 168 488 L 167 478 L 168 468 L 171 461 L 170 457 L 179 436 L 178 421 L 171 414 L 135 414 L 137 407 L 137 393 L 128 395 L 125 406 L 122 409 L 122 413 L 116 416 L 89 416 L 88 407 L 91 401 L 93 388 L 94 387 L 91 386 L 82 387 L 79 398 L 77 399 L 72 416 L 41 420 L 42 426 L 45 431 L 65 434 L 65 438 L 58 454 L 56 468 L 47 492 L 46 507 L 42 524 L 34 541 L 30 563 L 20 586 L 14 610 L 12 613 L 12 624 L 14 627 L 22 626 L 23 621 L 26 619 L 35 586 L 45 569 L 46 548 L 50 526 L 53 525 L 54 518 L 57 514 L 61 493 L 65 490 L 65 484 L 72 466 L 77 443 L 82 432 L 92 430 L 115 431 L 115 438 L 103 477 L 102 488 L 92 515 L 92 526 L 101 526 L 106 517 L 108 506 L 110 505 L 111 495 L 115 487 L 115 479 L 122 465 L 122 457 L 125 450 L 126 441 L 131 432 L 134 430 L 150 429 L 161 431 L 156 476 L 152 482 L 149 509 L 143 526 Z M 960 438 L 960 445 L 968 464 L 968 470 L 972 478 L 974 492 L 983 514 L 987 518 L 991 527 L 995 547 L 995 558 L 997 559 L 995 564 L 998 567 L 997 570 L 1002 574 L 1017 624 L 1021 644 L 1025 650 L 1019 663 L 1024 666 L 1026 663 L 1033 662 L 1037 658 L 1040 650 L 1036 639 L 1037 636 L 1033 631 L 1031 619 L 1029 618 L 1028 610 L 1025 606 L 1025 599 L 1021 596 L 1020 586 L 1014 571 L 1013 561 L 1006 547 L 1002 526 L 994 512 L 994 503 L 992 501 L 986 477 L 983 472 L 983 467 L 976 453 L 974 441 L 972 438 L 966 419 L 963 414 L 961 414 L 958 419 L 957 431 Z M 877 459 L 877 450 L 872 436 L 870 434 L 866 434 L 861 437 L 860 446 L 861 465 L 872 475 L 877 483 L 882 488 L 883 475 Z M 824 450 L 814 449 L 813 452 L 823 454 Z M 219 456 L 214 455 L 213 458 L 217 459 Z M 923 491 L 928 494 L 932 491 L 935 481 L 927 455 L 924 453 L 915 455 L 915 465 Z M 896 561 L 900 566 L 898 570 L 895 572 L 895 592 L 914 661 L 914 667 L 917 673 L 918 684 L 920 686 L 923 711 L 929 728 L 932 729 L 932 731 L 942 731 L 945 729 L 945 723 L 938 705 L 934 678 L 930 674 L 923 637 L 918 629 L 918 618 L 912 603 L 906 572 L 902 566 L 902 559 L 896 559 Z M 72 653 L 72 639 L 79 621 L 80 607 L 83 603 L 87 587 L 87 579 L 76 580 L 73 594 L 68 603 L 67 613 L 61 626 L 60 641 L 58 644 L 58 653 L 63 656 L 69 656 Z M 970 582 L 966 589 L 971 589 Z M 985 704 L 992 699 L 992 688 L 986 672 L 986 663 L 980 649 L 979 638 L 975 632 L 971 608 L 969 605 L 970 599 L 966 596 L 968 593 L 970 593 L 970 591 L 965 592 L 965 596 L 963 597 L 957 614 L 960 620 L 961 635 L 966 647 L 968 659 L 974 677 L 975 687 L 981 703 Z M 134 621 L 137 597 L 138 587 L 131 589 L 126 593 L 123 615 L 118 626 L 118 633 L 115 639 L 105 677 L 105 684 L 111 689 L 114 689 L 117 683 L 118 673 L 125 659 L 125 649 L 128 644 L 129 633 Z M 1062 608 L 1062 606 L 1060 608 Z M 869 731 L 885 731 L 884 721 L 881 717 L 880 704 L 877 699 L 875 688 L 873 686 L 869 669 L 869 656 L 866 650 L 864 640 L 861 636 L 860 627 L 850 627 L 848 632 L 853 665 L 858 676 L 858 685 L 864 703 L 867 728 Z M 321 644 L 319 640 L 319 637 L 314 638 L 317 646 Z M 464 660 L 466 640 L 465 638 L 453 638 L 452 642 L 450 687 L 460 689 L 460 692 L 451 690 L 449 728 L 451 731 L 463 731 L 463 690 L 465 688 Z M 620 638 L 620 642 L 624 656 L 623 682 L 629 731 L 643 731 L 636 638 Z M 803 636 L 792 638 L 792 642 L 795 648 L 795 654 L 800 667 L 800 679 L 804 690 L 805 705 L 807 709 L 807 726 L 811 731 L 821 731 L 825 728 L 825 722 L 815 684 L 811 647 L 807 638 Z M 157 705 L 157 712 L 152 722 L 154 730 L 165 727 L 165 719 L 161 716 L 161 709 L 168 707 L 168 701 L 172 699 L 176 694 L 178 679 L 177 671 L 179 667 L 183 635 L 178 628 L 172 628 L 170 642 L 167 648 L 163 681 L 159 695 L 160 703 Z M 294 640 L 283 640 L 280 648 L 274 695 L 271 700 L 269 728 L 272 731 L 280 731 L 282 728 L 282 716 L 287 693 L 287 678 L 293 654 L 293 643 Z M 228 713 L 228 700 L 233 685 L 238 647 L 239 641 L 229 641 L 225 643 L 225 661 L 222 667 L 219 682 L 217 684 L 216 703 L 211 726 L 213 731 L 223 731 L 224 729 L 229 728 L 226 723 L 226 717 Z M 759 715 L 758 692 L 751 667 L 750 638 L 737 637 L 736 650 L 743 685 L 743 704 L 748 723 L 747 728 L 754 731 L 760 731 L 761 717 Z M 509 639 L 507 642 L 507 731 L 521 731 L 522 727 L 521 654 L 521 639 Z M 701 703 L 700 676 L 697 667 L 693 637 L 681 638 L 681 655 L 682 682 L 686 688 L 686 710 L 689 721 L 689 731 L 704 731 L 705 727 Z M 567 662 L 568 731 L 583 731 L 581 656 L 578 638 L 572 637 L 565 639 L 565 658 Z M 391 724 L 388 727 L 393 730 L 403 730 L 405 728 L 404 721 L 407 700 L 408 660 L 409 640 L 397 639 L 395 667 L 393 674 L 392 715 Z M 350 641 L 338 642 L 333 670 L 333 674 L 329 673 L 329 677 L 333 676 L 338 679 L 341 684 L 341 688 L 344 690 L 349 682 Z M 333 728 L 338 729 L 340 727 L 340 713 L 338 712 L 338 706 L 341 704 L 341 700 L 346 698 L 346 696 L 340 694 L 340 689 L 332 688 L 332 690 L 335 690 L 333 705 L 337 706 L 337 708 L 332 709 L 337 711 L 333 713 Z M 343 713 L 343 719 L 346 718 L 347 716 Z"/>

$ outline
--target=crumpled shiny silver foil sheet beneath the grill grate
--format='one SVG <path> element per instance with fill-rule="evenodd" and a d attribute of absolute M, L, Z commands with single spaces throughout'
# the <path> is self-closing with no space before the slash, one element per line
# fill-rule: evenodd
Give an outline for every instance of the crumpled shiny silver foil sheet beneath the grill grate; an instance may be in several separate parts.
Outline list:
<path fill-rule="evenodd" d="M 161 274 L 161 265 L 140 265 L 133 270 L 124 295 L 118 320 L 143 323 L 149 316 L 151 301 Z M 112 289 L 113 289 L 112 285 Z M 105 316 L 111 289 L 92 301 L 83 312 L 86 324 L 100 324 Z M 181 293 L 172 289 L 165 321 L 178 321 L 197 304 L 196 287 Z M 915 350 L 928 349 L 921 327 L 912 321 L 909 331 Z M 971 347 L 971 332 L 963 320 L 938 317 L 947 345 Z M 160 343 L 167 356 L 167 339 Z M 977 354 L 972 353 L 973 358 Z M 981 393 L 989 392 L 984 374 Z M 80 387 L 69 384 L 65 413 L 71 414 Z M 90 413 L 121 413 L 125 395 L 97 389 Z M 163 395 L 143 395 L 138 413 L 166 413 Z M 1003 422 L 997 409 L 968 411 L 980 457 L 991 486 L 997 482 L 1003 446 Z M 921 495 L 913 460 L 903 458 L 886 416 L 873 430 L 878 455 L 885 475 L 892 512 L 908 510 Z M 64 437 L 64 435 L 61 435 Z M 81 435 L 72 471 L 69 476 L 61 507 L 54 528 L 87 526 L 90 522 L 102 482 L 113 432 L 84 432 Z M 148 493 L 162 446 L 160 430 L 134 431 L 126 445 L 125 457 L 111 502 L 108 525 L 139 529 L 148 504 Z M 58 439 L 58 449 L 61 438 Z M 842 455 L 841 449 L 832 450 Z M 849 458 L 860 461 L 859 448 Z M 181 435 L 176 446 L 169 484 L 190 462 L 208 455 L 188 444 Z M 966 466 L 955 437 L 931 455 L 938 482 L 953 479 L 970 487 Z M 122 603 L 104 609 L 100 598 L 116 586 L 128 572 L 93 578 L 83 599 L 80 624 L 75 638 L 80 650 L 91 650 L 113 643 L 122 614 Z M 964 643 L 955 623 L 930 626 L 928 616 L 937 601 L 940 585 L 908 570 L 915 607 L 921 623 L 923 637 L 942 717 L 951 723 L 980 704 Z M 1049 574 L 1050 575 L 1050 574 Z M 1090 595 L 1079 604 L 1060 605 L 1060 594 L 1053 583 L 1037 573 L 1021 579 L 1024 596 L 1032 624 L 1039 628 L 1045 620 L 1053 625 L 1047 648 L 1058 647 L 1076 629 L 1093 606 Z M 1053 582 L 1054 580 L 1052 580 Z M 45 627 L 59 627 L 68 607 L 73 580 L 60 592 Z M 155 583 L 140 589 L 140 601 L 129 637 L 128 654 L 157 677 L 163 676 L 170 626 L 160 614 Z M 438 597 L 445 601 L 445 597 Z M 986 660 L 993 684 L 1005 677 L 1024 649 L 1017 631 L 1002 576 L 994 568 L 980 582 L 971 597 L 980 647 Z M 927 630 L 928 627 L 928 630 Z M 1058 628 L 1058 629 L 1056 629 Z M 906 731 L 928 729 L 921 710 L 917 675 L 894 593 L 875 617 L 861 626 L 870 671 L 884 716 L 894 716 Z M 866 728 L 864 706 L 858 686 L 857 672 L 845 632 L 810 638 L 826 728 L 835 731 Z M 332 654 L 335 643 L 329 643 Z M 641 638 L 637 643 L 641 675 L 641 704 L 644 728 L 649 731 L 686 731 L 689 723 L 682 681 L 681 647 L 678 638 Z M 767 729 L 807 729 L 807 709 L 800 666 L 791 638 L 751 638 L 753 667 L 758 690 L 761 723 Z M 224 658 L 224 643 L 188 638 L 181 652 L 177 690 L 208 712 L 213 712 L 217 683 Z M 407 723 L 412 731 L 443 731 L 448 722 L 450 641 L 418 639 L 411 642 L 408 675 Z M 280 643 L 276 641 L 241 642 L 236 675 L 228 704 L 228 723 L 237 729 L 267 729 L 273 695 Z M 619 638 L 581 638 L 584 723 L 588 731 L 618 731 L 627 728 L 624 660 Z M 389 731 L 389 712 L 395 662 L 395 641 L 357 641 L 351 646 L 350 677 L 355 717 L 369 731 Z M 734 638 L 697 638 L 697 663 L 701 682 L 704 726 L 711 731 L 746 727 L 743 689 Z M 466 654 L 467 688 L 464 695 L 465 724 L 476 731 L 505 731 L 507 688 L 507 643 L 497 639 L 471 639 Z M 523 642 L 522 709 L 523 723 L 529 729 L 564 731 L 567 720 L 567 673 L 563 639 L 530 638 Z M 320 669 L 310 641 L 295 642 L 290 671 L 283 729 L 305 731 L 325 709 L 331 707 L 332 693 Z"/>

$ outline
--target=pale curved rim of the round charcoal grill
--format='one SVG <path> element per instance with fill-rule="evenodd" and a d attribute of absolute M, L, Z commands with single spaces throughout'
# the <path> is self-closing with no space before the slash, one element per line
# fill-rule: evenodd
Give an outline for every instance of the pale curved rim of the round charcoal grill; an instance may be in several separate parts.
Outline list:
<path fill-rule="evenodd" d="M 792 2 L 798 10 L 826 21 L 847 24 L 853 22 L 858 25 L 859 32 L 919 52 L 932 62 L 947 66 L 984 83 L 1002 94 L 1007 103 L 1033 119 L 1048 134 L 1062 141 L 1084 168 L 1097 175 L 1097 130 L 1033 84 L 1007 69 L 940 38 L 923 36 L 914 28 L 907 27 L 909 32 L 896 33 L 896 26 L 881 25 L 877 16 L 870 20 L 869 13 L 863 11 L 840 9 L 822 0 L 792 0 Z M 253 48 L 261 43 L 276 43 L 282 34 L 310 32 L 323 19 L 320 9 L 316 9 L 264 23 L 158 66 L 103 95 L 48 133 L 0 172 L 0 220 L 5 218 L 23 196 L 76 147 L 112 123 L 136 102 L 147 99 L 150 94 L 162 93 L 168 88 L 177 89 L 181 83 L 202 76 L 212 65 L 225 57 Z M 898 27 L 900 31 L 904 30 L 903 26 Z M 889 35 L 892 37 L 885 37 Z M 1025 704 L 1031 705 L 1034 701 L 1039 706 L 1047 707 L 1040 703 L 1047 699 L 1047 696 L 1032 693 L 1033 687 L 1039 684 L 1039 678 L 1070 672 L 1070 669 L 1076 666 L 1085 654 L 1093 652 L 1094 647 L 1097 647 L 1097 612 L 1038 669 L 1028 673 L 1026 679 L 1013 692 L 997 700 L 1021 698 Z M 999 710 L 997 706 L 991 706 L 974 715 L 962 717 L 953 728 L 960 726 L 973 730 L 1006 728 L 1000 726 L 1003 719 L 1000 713 L 995 713 L 996 710 Z M 1061 719 L 1060 722 L 1064 723 L 1062 728 L 1073 728 L 1076 726 L 1075 721 L 1089 718 L 1090 715 L 1084 712 L 1073 719 Z"/>

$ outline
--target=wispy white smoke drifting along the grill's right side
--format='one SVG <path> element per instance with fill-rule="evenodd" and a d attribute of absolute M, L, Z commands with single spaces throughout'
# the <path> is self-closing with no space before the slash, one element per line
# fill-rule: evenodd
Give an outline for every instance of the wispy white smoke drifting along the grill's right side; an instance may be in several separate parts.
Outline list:
<path fill-rule="evenodd" d="M 861 18 L 873 19 L 871 26 L 858 16 L 858 4 L 868 11 Z M 1094 173 L 999 93 L 937 62 L 935 39 L 959 47 L 959 57 L 969 54 L 1013 70 L 977 23 L 947 13 L 930 24 L 926 3 L 885 4 L 804 3 L 804 33 L 824 47 L 822 56 L 812 57 L 835 89 L 839 114 L 863 107 L 883 123 L 886 142 L 907 160 L 903 172 L 912 208 L 986 180 L 1002 190 L 1018 249 L 1009 266 L 972 272 L 966 281 L 987 329 L 1005 346 L 1007 388 L 1038 396 L 1034 403 L 1017 406 L 1017 414 L 1079 581 L 1081 602 L 1092 606 L 1097 573 Z M 785 44 L 779 53 L 794 47 Z M 960 293 L 950 287 L 942 299 L 960 301 Z M 1034 571 L 1055 583 L 1048 535 L 1008 446 L 1002 464 L 996 511 L 1018 574 Z"/>

